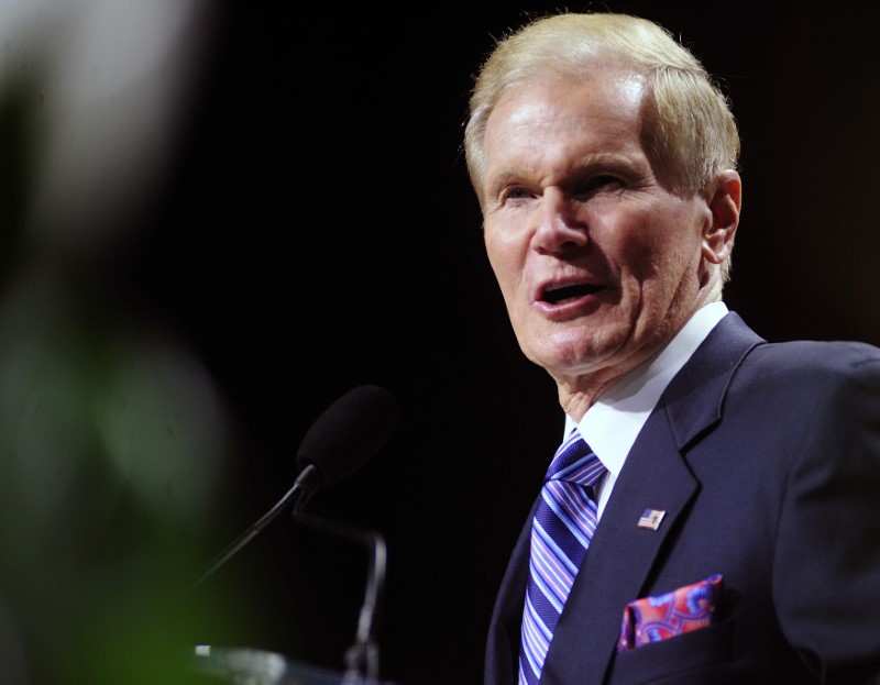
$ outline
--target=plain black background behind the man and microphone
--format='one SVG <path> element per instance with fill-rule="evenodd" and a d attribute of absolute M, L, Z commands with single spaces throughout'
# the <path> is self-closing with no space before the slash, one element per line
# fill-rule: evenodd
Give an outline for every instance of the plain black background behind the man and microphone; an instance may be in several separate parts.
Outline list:
<path fill-rule="evenodd" d="M 519 354 L 461 152 L 471 76 L 557 3 L 228 1 L 125 285 L 210 371 L 240 435 L 231 540 L 290 486 L 337 397 L 378 384 L 400 426 L 310 510 L 388 545 L 382 675 L 477 683 L 485 629 L 562 415 Z M 730 95 L 744 211 L 728 306 L 769 340 L 880 343 L 871 3 L 607 2 L 680 36 Z M 199 639 L 342 669 L 366 555 L 274 522 Z M 212 592 L 210 587 L 206 593 Z"/>

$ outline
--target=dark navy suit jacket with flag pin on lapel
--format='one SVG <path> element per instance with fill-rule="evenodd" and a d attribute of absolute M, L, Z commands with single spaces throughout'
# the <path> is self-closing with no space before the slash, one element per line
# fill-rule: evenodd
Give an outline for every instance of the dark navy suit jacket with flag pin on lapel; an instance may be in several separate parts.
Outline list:
<path fill-rule="evenodd" d="M 666 511 L 658 530 L 638 527 L 646 509 Z M 498 592 L 486 685 L 517 680 L 528 546 L 527 524 Z M 617 652 L 628 603 L 715 573 L 726 590 L 713 625 Z M 632 445 L 541 684 L 849 685 L 878 673 L 880 350 L 771 344 L 728 313 Z"/>

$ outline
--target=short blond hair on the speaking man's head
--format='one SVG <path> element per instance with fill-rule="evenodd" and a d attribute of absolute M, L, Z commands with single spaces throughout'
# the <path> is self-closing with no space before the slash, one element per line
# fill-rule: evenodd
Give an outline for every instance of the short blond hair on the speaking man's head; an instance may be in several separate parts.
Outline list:
<path fill-rule="evenodd" d="M 486 122 L 502 97 L 552 77 L 578 82 L 607 67 L 644 78 L 646 151 L 676 190 L 701 191 L 718 172 L 736 168 L 739 133 L 727 98 L 666 29 L 628 14 L 554 14 L 498 41 L 476 77 L 464 151 L 481 206 Z"/>

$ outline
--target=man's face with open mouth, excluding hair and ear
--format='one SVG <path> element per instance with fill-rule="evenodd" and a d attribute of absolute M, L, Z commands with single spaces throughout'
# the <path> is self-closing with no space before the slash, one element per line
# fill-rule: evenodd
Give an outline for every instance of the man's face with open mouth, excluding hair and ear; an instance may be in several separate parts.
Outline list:
<path fill-rule="evenodd" d="M 639 78 L 604 70 L 516 88 L 487 122 L 488 258 L 522 352 L 557 380 L 635 367 L 705 285 L 712 211 L 649 159 L 642 97 Z"/>

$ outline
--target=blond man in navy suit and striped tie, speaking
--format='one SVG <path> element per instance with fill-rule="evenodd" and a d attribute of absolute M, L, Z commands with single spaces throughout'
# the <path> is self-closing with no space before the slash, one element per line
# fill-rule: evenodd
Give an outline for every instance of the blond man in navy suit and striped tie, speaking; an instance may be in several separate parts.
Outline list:
<path fill-rule="evenodd" d="M 738 148 L 642 19 L 535 20 L 477 77 L 487 254 L 582 450 L 513 552 L 487 684 L 878 678 L 880 351 L 770 344 L 728 312 Z"/>

